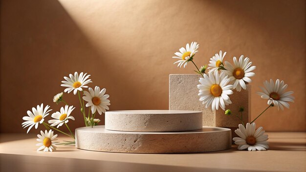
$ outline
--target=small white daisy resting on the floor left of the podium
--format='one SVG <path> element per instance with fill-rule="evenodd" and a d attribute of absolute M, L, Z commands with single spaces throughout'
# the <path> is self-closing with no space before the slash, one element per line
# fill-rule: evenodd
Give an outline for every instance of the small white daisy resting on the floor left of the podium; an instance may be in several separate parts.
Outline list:
<path fill-rule="evenodd" d="M 36 146 L 41 146 L 37 149 L 37 151 L 56 151 L 56 144 L 59 142 L 55 142 L 57 139 L 57 134 L 53 135 L 53 131 L 50 129 L 49 132 L 45 130 L 41 131 L 42 135 L 37 134 L 37 141 L 41 142 L 36 144 Z"/>

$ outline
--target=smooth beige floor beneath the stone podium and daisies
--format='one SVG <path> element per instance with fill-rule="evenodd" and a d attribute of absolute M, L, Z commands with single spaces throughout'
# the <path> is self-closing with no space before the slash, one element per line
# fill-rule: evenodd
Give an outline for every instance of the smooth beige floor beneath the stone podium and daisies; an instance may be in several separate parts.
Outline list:
<path fill-rule="evenodd" d="M 0 134 L 0 172 L 305 172 L 306 132 L 269 132 L 268 151 L 133 154 L 84 151 L 61 146 L 38 152 L 36 136 Z M 71 140 L 60 136 L 60 140 Z"/>

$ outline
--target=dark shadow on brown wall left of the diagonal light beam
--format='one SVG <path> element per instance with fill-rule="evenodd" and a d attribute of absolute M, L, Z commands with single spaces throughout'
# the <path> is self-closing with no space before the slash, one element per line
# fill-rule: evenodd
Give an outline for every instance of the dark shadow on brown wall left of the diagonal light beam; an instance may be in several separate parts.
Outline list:
<path fill-rule="evenodd" d="M 64 90 L 60 86 L 64 76 L 74 71 L 98 74 L 98 67 L 103 67 L 102 57 L 57 0 L 2 0 L 0 30 L 1 132 L 25 133 L 22 116 L 41 103 L 53 109 L 46 117 L 49 120 L 64 106 L 52 102 Z M 72 93 L 65 99 L 77 105 L 76 121 L 69 125 L 83 126 L 79 100 Z M 39 131 L 32 128 L 31 132 Z"/>

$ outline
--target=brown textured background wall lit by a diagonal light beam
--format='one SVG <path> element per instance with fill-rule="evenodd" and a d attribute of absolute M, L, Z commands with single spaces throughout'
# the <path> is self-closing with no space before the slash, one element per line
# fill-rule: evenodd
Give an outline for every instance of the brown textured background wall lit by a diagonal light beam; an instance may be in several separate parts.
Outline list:
<path fill-rule="evenodd" d="M 258 86 L 284 80 L 295 103 L 269 109 L 257 124 L 305 131 L 305 14 L 304 0 L 1 0 L 0 131 L 26 132 L 22 116 L 37 104 L 59 110 L 52 97 L 74 71 L 107 88 L 110 110 L 167 109 L 169 74 L 194 70 L 171 57 L 192 41 L 200 44 L 198 65 L 220 49 L 228 61 L 250 57 L 253 119 L 266 107 Z M 73 94 L 65 99 L 79 109 Z M 68 124 L 83 126 L 78 110 L 73 115 Z"/>

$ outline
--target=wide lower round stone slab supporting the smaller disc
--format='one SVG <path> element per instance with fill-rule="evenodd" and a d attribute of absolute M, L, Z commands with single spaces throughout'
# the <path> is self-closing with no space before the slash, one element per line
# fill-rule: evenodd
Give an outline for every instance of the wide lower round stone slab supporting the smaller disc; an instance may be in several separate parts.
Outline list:
<path fill-rule="evenodd" d="M 75 130 L 76 148 L 130 153 L 189 153 L 231 148 L 230 129 L 203 127 L 184 132 L 126 132 L 104 126 Z"/>

